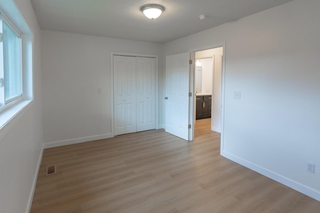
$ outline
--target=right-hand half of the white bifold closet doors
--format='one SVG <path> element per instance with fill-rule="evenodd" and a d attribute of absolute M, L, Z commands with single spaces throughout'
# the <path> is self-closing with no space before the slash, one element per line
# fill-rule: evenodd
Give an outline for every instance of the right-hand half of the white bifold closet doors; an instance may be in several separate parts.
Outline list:
<path fill-rule="evenodd" d="M 136 131 L 155 129 L 155 58 L 136 57 Z"/>

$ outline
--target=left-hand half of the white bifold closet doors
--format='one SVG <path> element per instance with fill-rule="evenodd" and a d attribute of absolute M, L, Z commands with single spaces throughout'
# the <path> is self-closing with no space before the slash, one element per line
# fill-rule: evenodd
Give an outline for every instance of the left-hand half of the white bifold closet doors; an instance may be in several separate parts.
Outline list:
<path fill-rule="evenodd" d="M 114 135 L 136 132 L 135 83 L 135 57 L 114 55 Z"/>

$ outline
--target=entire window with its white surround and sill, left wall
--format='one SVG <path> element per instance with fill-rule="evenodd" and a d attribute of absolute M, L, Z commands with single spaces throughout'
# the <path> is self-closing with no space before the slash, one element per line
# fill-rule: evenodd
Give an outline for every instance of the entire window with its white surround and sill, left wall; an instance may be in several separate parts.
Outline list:
<path fill-rule="evenodd" d="M 33 100 L 33 35 L 14 1 L 0 3 L 0 138 Z"/>

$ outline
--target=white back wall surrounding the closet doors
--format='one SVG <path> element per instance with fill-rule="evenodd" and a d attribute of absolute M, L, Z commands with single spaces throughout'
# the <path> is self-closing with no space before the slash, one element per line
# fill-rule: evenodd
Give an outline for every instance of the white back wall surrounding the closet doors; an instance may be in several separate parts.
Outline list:
<path fill-rule="evenodd" d="M 110 52 L 158 55 L 163 85 L 158 43 L 43 30 L 41 47 L 45 147 L 112 136 Z"/>

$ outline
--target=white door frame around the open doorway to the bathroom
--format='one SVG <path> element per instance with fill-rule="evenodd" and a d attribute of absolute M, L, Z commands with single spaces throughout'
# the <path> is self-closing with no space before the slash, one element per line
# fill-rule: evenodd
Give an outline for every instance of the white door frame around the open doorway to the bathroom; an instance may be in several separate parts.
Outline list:
<path fill-rule="evenodd" d="M 221 137 L 220 137 L 220 155 L 223 153 L 223 141 L 224 141 L 224 99 L 225 99 L 225 41 L 216 43 L 211 46 L 203 46 L 199 48 L 194 48 L 189 50 L 190 52 L 190 58 L 192 60 L 192 66 L 191 66 L 191 73 L 190 73 L 190 88 L 189 91 L 192 93 L 192 98 L 190 100 L 190 124 L 191 124 L 191 131 L 189 132 L 189 139 L 194 139 L 194 103 L 195 103 L 195 52 L 203 51 L 207 49 L 214 49 L 222 47 L 222 73 L 221 73 Z M 212 113 L 212 112 L 211 112 Z"/>

